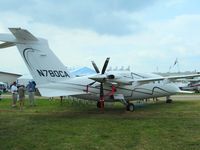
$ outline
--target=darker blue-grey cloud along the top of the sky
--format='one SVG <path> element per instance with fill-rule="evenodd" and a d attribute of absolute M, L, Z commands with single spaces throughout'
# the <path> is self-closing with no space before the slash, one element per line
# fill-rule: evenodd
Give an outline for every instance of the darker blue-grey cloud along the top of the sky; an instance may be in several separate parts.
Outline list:
<path fill-rule="evenodd" d="M 124 13 L 136 12 L 154 4 L 155 0 L 15 0 L 0 1 L 1 11 L 14 11 L 31 16 L 44 24 L 70 29 L 92 30 L 100 34 L 126 35 L 138 30 L 136 21 Z M 134 28 L 130 28 L 133 26 Z M 135 29 L 136 27 L 136 29 Z"/>

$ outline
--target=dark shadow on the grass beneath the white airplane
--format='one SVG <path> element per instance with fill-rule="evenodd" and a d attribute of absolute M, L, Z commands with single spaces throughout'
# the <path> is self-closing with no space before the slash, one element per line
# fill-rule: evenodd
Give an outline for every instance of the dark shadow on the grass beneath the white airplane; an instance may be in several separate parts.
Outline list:
<path fill-rule="evenodd" d="M 168 105 L 169 106 L 169 105 Z M 48 110 L 48 111 L 40 111 L 34 110 L 32 113 L 25 112 L 25 114 L 32 114 L 32 117 L 41 117 L 41 118 L 122 118 L 122 119 L 143 119 L 147 117 L 151 117 L 160 113 L 160 109 L 166 109 L 168 107 L 163 102 L 158 103 L 140 103 L 135 104 L 135 111 L 130 112 L 126 111 L 123 105 L 109 106 L 105 107 L 104 110 L 100 110 L 96 108 L 94 105 L 88 106 L 80 106 L 80 105 L 64 105 L 58 106 L 61 110 Z"/>

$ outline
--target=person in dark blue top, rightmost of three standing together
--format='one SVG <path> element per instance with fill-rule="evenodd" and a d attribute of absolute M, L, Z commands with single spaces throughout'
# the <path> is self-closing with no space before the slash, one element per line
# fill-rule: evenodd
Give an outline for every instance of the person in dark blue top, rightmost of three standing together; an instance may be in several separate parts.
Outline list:
<path fill-rule="evenodd" d="M 29 96 L 29 104 L 30 106 L 35 106 L 35 82 L 34 81 L 29 81 L 27 85 L 27 91 L 28 91 L 28 96 Z"/>

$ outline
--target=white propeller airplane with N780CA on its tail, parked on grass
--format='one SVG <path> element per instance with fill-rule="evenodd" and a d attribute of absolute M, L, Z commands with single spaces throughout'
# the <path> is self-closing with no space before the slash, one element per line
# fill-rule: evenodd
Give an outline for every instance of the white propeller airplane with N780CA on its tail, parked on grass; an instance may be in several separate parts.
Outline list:
<path fill-rule="evenodd" d="M 106 72 L 109 58 L 100 70 L 92 62 L 97 74 L 72 77 L 66 67 L 50 50 L 45 39 L 37 38 L 21 28 L 9 28 L 12 34 L 0 34 L 0 48 L 17 46 L 42 96 L 76 96 L 97 101 L 97 107 L 103 110 L 105 101 L 120 101 L 128 111 L 134 110 L 131 100 L 157 98 L 184 93 L 172 81 L 180 78 L 192 78 L 199 74 L 170 77 L 152 77 L 133 72 Z M 71 56 L 70 56 L 71 57 Z"/>

